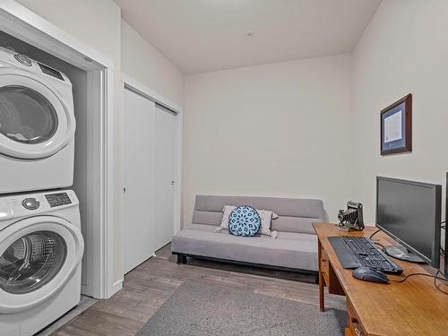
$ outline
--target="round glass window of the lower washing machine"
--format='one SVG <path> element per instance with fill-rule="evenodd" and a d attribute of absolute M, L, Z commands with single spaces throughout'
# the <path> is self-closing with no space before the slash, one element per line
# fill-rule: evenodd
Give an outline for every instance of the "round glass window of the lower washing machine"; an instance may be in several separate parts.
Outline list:
<path fill-rule="evenodd" d="M 30 293 L 55 278 L 65 263 L 67 246 L 51 231 L 37 231 L 17 239 L 0 256 L 0 289 Z"/>

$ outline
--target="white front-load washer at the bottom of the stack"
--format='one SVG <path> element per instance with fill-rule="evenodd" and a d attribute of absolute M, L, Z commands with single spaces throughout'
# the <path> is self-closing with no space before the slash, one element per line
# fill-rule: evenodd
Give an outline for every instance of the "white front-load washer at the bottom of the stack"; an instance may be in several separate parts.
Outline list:
<path fill-rule="evenodd" d="M 0 334 L 29 336 L 76 306 L 84 242 L 72 190 L 0 198 Z"/>

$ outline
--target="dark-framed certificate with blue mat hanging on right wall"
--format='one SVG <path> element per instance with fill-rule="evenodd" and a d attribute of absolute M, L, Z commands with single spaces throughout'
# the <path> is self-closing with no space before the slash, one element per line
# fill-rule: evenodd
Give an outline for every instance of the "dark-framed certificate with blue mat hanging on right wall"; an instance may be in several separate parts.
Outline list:
<path fill-rule="evenodd" d="M 381 155 L 412 151 L 412 94 L 381 111 Z"/>

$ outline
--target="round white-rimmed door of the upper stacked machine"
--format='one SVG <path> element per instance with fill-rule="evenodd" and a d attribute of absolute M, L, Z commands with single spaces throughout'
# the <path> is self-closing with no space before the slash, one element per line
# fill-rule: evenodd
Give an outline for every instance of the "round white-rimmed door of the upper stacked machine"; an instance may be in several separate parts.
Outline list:
<path fill-rule="evenodd" d="M 42 159 L 73 140 L 73 107 L 43 78 L 0 68 L 0 153 Z"/>

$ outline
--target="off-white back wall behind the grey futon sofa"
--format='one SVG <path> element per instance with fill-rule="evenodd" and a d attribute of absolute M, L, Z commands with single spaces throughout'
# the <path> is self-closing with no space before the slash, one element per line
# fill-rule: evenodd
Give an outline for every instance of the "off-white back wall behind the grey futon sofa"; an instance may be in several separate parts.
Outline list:
<path fill-rule="evenodd" d="M 196 194 L 323 199 L 351 190 L 351 57 L 185 76 L 185 217 Z"/>

